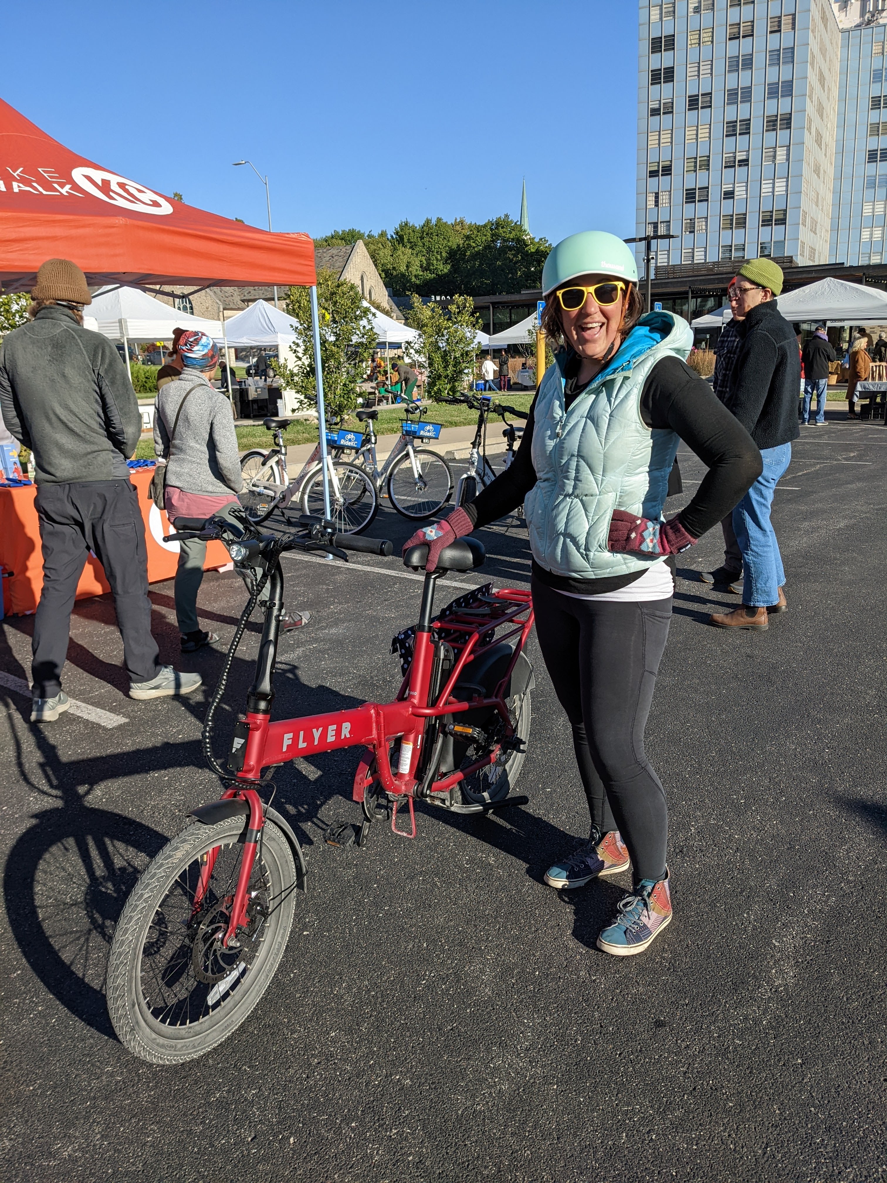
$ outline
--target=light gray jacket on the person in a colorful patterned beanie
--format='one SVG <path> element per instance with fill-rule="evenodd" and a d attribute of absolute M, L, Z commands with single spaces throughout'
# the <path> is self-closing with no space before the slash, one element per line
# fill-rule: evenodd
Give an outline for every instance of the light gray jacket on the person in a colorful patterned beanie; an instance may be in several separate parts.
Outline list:
<path fill-rule="evenodd" d="M 187 392 L 170 452 L 169 437 L 175 415 Z M 244 487 L 240 454 L 231 403 L 202 374 L 188 374 L 167 382 L 157 394 L 154 415 L 154 451 L 168 457 L 167 484 L 186 493 L 221 497 Z"/>

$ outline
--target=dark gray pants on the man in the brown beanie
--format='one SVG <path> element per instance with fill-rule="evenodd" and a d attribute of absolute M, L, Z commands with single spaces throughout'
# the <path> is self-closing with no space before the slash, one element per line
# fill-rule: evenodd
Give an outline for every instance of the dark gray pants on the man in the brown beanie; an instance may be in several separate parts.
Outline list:
<path fill-rule="evenodd" d="M 43 592 L 32 642 L 34 694 L 54 698 L 61 689 L 71 609 L 90 550 L 111 584 L 129 680 L 156 678 L 148 551 L 134 486 L 123 479 L 43 484 L 34 504 L 43 542 Z"/>

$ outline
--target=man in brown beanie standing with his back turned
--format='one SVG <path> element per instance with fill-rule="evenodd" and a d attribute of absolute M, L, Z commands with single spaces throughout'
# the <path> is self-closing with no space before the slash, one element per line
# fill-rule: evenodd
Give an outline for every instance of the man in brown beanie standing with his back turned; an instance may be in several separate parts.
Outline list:
<path fill-rule="evenodd" d="M 92 303 L 67 259 L 37 273 L 30 322 L 0 347 L 4 422 L 31 448 L 43 543 L 43 592 L 32 642 L 32 723 L 69 709 L 61 690 L 71 609 L 90 550 L 111 584 L 131 698 L 188 693 L 201 683 L 158 662 L 151 636 L 144 524 L 127 459 L 138 444 L 138 402 L 116 348 L 83 328 Z"/>

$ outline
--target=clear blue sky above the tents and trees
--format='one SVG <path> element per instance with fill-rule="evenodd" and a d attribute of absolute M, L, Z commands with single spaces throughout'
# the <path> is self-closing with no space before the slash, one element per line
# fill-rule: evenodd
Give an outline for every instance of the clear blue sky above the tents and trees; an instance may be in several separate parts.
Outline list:
<path fill-rule="evenodd" d="M 634 232 L 634 0 L 43 0 L 0 96 L 75 151 L 274 230 L 517 218 Z M 17 46 L 15 52 L 11 49 Z"/>

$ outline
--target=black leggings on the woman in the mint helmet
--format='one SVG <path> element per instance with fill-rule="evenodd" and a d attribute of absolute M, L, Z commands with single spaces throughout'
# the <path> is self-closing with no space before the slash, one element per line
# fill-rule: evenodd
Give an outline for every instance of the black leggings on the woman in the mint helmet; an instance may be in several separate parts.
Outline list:
<path fill-rule="evenodd" d="M 666 871 L 668 810 L 643 751 L 672 600 L 595 602 L 533 577 L 536 632 L 572 743 L 593 825 L 619 829 L 635 881 Z"/>

